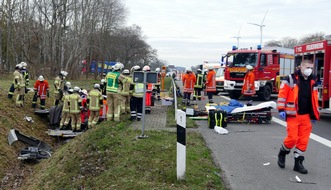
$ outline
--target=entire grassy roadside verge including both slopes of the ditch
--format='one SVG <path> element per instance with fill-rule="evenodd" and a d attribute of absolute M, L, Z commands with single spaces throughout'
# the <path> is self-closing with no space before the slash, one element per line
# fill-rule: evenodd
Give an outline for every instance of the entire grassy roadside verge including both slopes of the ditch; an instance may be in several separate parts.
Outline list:
<path fill-rule="evenodd" d="M 17 180 L 13 180 L 12 184 L 0 186 L 4 189 L 223 189 L 220 170 L 198 133 L 187 133 L 186 177 L 177 181 L 176 133 L 149 131 L 149 138 L 137 139 L 139 132 L 128 127 L 131 122 L 129 115 L 125 115 L 122 123 L 102 122 L 61 145 L 45 134 L 47 121 L 36 116 L 33 124 L 23 120 L 24 115 L 31 115 L 33 110 L 30 106 L 16 108 L 14 101 L 6 98 L 7 82 L 6 85 L 0 83 L 5 87 L 0 101 L 0 110 L 5 112 L 0 124 L 0 177 L 4 178 L 1 174 L 17 166 L 20 170 L 12 175 L 21 183 L 14 184 Z M 93 81 L 72 83 L 83 86 Z M 51 103 L 49 100 L 47 104 Z M 167 118 L 167 122 L 170 120 Z M 52 157 L 35 165 L 20 163 L 17 152 L 25 145 L 8 145 L 10 128 L 18 128 L 23 134 L 53 145 Z"/>

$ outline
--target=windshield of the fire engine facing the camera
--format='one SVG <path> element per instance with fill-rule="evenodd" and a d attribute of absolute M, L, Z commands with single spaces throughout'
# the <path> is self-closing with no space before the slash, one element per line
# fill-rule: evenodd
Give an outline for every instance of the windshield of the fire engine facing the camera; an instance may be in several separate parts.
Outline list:
<path fill-rule="evenodd" d="M 252 65 L 253 67 L 257 62 L 257 53 L 233 53 L 227 54 L 227 64 L 230 67 L 245 67 Z"/>

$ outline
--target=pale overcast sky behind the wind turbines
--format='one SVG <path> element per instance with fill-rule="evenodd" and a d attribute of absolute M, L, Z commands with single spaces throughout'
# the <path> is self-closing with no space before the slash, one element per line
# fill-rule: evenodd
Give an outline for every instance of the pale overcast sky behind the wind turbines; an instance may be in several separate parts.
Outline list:
<path fill-rule="evenodd" d="M 159 59 L 176 66 L 220 61 L 237 44 L 256 47 L 283 37 L 331 34 L 330 0 L 124 0 L 127 25 L 141 26 Z"/>

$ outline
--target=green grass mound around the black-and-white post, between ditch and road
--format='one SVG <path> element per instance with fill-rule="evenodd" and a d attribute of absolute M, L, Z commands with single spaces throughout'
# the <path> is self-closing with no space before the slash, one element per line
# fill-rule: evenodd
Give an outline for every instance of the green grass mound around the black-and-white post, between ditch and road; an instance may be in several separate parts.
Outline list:
<path fill-rule="evenodd" d="M 137 139 L 129 123 L 102 123 L 40 163 L 27 189 L 223 189 L 201 135 L 187 134 L 187 170 L 176 177 L 176 133 Z"/>

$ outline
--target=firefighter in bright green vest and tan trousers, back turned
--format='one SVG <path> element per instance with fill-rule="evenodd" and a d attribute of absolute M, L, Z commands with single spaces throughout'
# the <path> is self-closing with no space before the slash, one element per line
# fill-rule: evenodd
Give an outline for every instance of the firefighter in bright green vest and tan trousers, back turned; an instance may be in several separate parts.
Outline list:
<path fill-rule="evenodd" d="M 108 121 L 120 121 L 120 113 L 121 113 L 121 85 L 126 81 L 125 77 L 120 73 L 121 65 L 115 64 L 113 67 L 113 71 L 109 72 L 106 75 L 106 93 L 107 93 L 107 104 L 108 104 L 108 112 L 107 112 L 107 120 Z"/>

